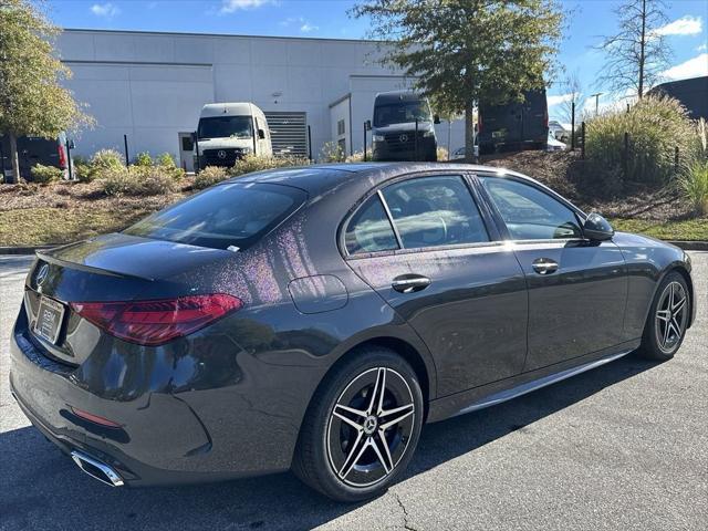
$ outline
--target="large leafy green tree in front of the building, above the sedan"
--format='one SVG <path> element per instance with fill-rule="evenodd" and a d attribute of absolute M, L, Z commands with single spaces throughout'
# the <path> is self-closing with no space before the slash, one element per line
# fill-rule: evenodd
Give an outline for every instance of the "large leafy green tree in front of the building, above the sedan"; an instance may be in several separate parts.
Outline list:
<path fill-rule="evenodd" d="M 544 86 L 563 22 L 555 0 L 371 0 L 351 14 L 371 19 L 369 37 L 386 41 L 384 62 L 413 76 L 438 111 L 465 113 L 468 159 L 475 105 Z"/>

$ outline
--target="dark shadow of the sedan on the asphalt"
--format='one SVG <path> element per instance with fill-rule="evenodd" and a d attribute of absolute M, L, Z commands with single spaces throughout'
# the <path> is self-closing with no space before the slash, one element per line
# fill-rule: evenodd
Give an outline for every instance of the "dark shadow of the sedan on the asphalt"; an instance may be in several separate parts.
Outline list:
<path fill-rule="evenodd" d="M 426 426 L 397 491 L 405 496 L 407 478 L 511 431 L 530 429 L 534 421 L 654 366 L 625 357 L 507 404 Z M 0 456 L 2 530 L 309 529 L 361 507 L 330 501 L 291 473 L 194 487 L 112 489 L 82 473 L 32 427 L 0 434 Z"/>

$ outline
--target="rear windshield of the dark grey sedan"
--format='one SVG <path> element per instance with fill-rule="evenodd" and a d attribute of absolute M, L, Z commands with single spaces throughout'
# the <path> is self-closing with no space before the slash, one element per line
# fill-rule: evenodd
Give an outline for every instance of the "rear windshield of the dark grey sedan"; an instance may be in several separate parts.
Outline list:
<path fill-rule="evenodd" d="M 305 199 L 304 191 L 290 186 L 218 185 L 138 221 L 124 232 L 212 249 L 246 249 Z"/>

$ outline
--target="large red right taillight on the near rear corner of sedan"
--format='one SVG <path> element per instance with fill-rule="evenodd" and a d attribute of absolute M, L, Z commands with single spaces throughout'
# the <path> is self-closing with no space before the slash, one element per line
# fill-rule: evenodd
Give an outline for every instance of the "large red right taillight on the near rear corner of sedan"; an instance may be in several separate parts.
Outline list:
<path fill-rule="evenodd" d="M 242 306 L 243 301 L 225 293 L 158 301 L 71 303 L 74 312 L 110 334 L 150 346 L 196 332 Z"/>

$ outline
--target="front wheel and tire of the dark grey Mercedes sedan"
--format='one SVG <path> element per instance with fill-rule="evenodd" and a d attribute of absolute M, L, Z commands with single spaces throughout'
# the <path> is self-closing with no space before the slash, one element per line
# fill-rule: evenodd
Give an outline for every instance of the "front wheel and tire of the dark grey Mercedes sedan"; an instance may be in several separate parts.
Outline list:
<path fill-rule="evenodd" d="M 684 342 L 690 311 L 690 291 L 686 279 L 676 271 L 669 272 L 652 301 L 637 354 L 660 362 L 674 357 Z"/>

